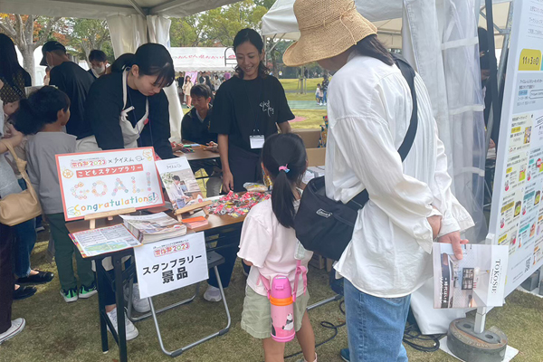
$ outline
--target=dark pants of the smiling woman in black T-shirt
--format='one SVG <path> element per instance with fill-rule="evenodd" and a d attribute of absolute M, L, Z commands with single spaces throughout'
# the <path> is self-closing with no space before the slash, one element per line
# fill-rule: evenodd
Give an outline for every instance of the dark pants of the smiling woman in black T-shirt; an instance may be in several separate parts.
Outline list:
<path fill-rule="evenodd" d="M 243 184 L 246 182 L 262 181 L 259 154 L 229 145 L 228 163 L 230 164 L 230 172 L 233 175 L 233 192 L 245 191 Z"/>

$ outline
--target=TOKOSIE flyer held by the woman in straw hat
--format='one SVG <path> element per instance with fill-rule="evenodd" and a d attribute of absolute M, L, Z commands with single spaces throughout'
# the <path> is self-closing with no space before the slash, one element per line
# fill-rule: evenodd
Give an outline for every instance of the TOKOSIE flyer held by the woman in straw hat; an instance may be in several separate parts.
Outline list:
<path fill-rule="evenodd" d="M 433 243 L 433 308 L 501 306 L 509 247 L 469 243 L 462 254 L 459 261 L 450 243 Z"/>

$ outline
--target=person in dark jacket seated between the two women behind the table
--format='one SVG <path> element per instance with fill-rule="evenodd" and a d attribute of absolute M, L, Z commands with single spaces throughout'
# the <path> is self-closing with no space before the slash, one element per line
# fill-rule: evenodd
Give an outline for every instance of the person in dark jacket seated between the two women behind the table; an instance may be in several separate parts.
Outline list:
<path fill-rule="evenodd" d="M 209 122 L 213 111 L 213 107 L 209 104 L 211 95 L 211 90 L 205 84 L 196 84 L 190 90 L 194 107 L 186 113 L 181 121 L 181 138 L 187 142 L 206 145 L 206 149 L 210 152 L 218 152 L 217 134 L 209 131 Z M 204 168 L 205 173 L 209 176 L 205 184 L 207 197 L 219 195 L 223 183 L 219 162 L 214 159 L 190 161 L 190 167 L 193 172 Z"/>

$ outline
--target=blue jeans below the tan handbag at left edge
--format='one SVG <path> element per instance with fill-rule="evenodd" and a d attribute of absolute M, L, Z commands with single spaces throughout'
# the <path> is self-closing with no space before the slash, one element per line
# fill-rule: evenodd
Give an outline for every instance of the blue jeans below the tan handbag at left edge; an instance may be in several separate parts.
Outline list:
<path fill-rule="evenodd" d="M 19 179 L 19 185 L 26 190 L 24 179 Z M 36 243 L 36 219 L 14 225 L 14 274 L 19 278 L 30 274 L 30 254 Z"/>

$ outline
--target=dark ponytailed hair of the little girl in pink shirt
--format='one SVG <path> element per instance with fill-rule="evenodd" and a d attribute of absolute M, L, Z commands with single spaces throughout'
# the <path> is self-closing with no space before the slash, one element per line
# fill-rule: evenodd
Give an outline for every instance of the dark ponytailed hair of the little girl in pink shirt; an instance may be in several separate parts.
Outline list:
<path fill-rule="evenodd" d="M 280 224 L 294 227 L 295 196 L 307 166 L 307 154 L 300 136 L 287 133 L 266 139 L 262 148 L 262 164 L 273 181 L 271 205 Z"/>

